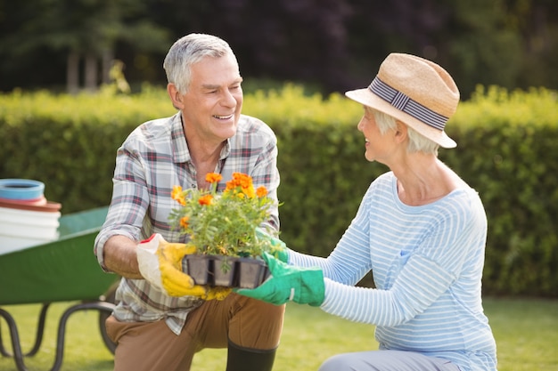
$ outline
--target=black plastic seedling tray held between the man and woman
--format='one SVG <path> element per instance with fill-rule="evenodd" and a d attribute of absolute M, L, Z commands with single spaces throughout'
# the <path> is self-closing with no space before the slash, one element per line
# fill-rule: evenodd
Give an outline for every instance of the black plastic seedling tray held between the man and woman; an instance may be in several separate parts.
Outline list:
<path fill-rule="evenodd" d="M 255 288 L 269 276 L 261 259 L 234 256 L 186 255 L 182 267 L 196 285 Z"/>

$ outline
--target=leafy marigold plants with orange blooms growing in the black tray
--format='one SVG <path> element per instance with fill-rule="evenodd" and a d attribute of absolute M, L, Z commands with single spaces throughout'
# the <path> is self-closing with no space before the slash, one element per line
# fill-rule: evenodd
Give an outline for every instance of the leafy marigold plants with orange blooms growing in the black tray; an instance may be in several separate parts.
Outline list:
<path fill-rule="evenodd" d="M 269 220 L 270 206 L 265 187 L 255 190 L 250 175 L 233 173 L 226 190 L 217 194 L 221 174 L 209 173 L 209 190 L 175 186 L 171 197 L 178 203 L 169 220 L 181 234 L 191 236 L 188 244 L 200 254 L 261 257 L 271 250 L 267 238 L 257 238 L 256 229 Z"/>

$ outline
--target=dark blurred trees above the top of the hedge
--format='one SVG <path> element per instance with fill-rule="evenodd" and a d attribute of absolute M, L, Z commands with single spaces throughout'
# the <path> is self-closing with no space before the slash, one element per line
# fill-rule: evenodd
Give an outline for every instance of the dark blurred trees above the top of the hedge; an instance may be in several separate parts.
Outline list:
<path fill-rule="evenodd" d="M 0 0 L 0 91 L 94 91 L 123 62 L 134 91 L 165 84 L 190 32 L 231 44 L 245 78 L 321 93 L 367 85 L 389 52 L 434 60 L 475 85 L 558 88 L 554 0 Z"/>

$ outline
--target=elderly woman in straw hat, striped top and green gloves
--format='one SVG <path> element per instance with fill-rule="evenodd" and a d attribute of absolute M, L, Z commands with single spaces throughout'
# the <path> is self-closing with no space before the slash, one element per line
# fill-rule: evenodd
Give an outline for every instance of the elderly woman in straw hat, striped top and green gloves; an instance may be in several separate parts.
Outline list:
<path fill-rule="evenodd" d="M 390 172 L 370 185 L 332 254 L 266 255 L 273 278 L 240 293 L 376 326 L 379 351 L 334 356 L 322 371 L 496 370 L 480 295 L 486 214 L 437 156 L 455 147 L 444 132 L 459 101 L 452 77 L 430 60 L 392 53 L 368 88 L 346 95 L 364 106 L 365 158 Z M 375 288 L 355 286 L 370 270 Z"/>

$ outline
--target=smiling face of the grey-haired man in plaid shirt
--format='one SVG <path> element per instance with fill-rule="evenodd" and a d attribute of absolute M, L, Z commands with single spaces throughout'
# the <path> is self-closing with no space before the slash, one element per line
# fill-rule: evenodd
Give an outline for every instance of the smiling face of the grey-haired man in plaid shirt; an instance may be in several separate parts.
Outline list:
<path fill-rule="evenodd" d="M 236 133 L 242 110 L 241 83 L 232 55 L 206 57 L 192 66 L 188 91 L 177 104 L 188 141 L 218 144 Z"/>

